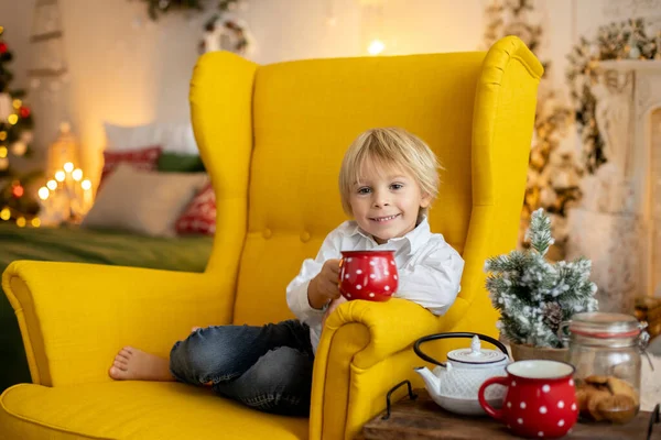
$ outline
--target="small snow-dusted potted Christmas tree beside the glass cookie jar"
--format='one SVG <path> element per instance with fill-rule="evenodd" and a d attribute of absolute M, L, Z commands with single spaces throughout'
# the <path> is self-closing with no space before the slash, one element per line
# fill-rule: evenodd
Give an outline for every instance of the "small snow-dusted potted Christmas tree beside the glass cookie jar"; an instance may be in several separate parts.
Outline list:
<path fill-rule="evenodd" d="M 494 256 L 485 264 L 487 290 L 501 314 L 498 328 L 512 343 L 562 348 L 560 323 L 597 309 L 597 286 L 588 279 L 592 263 L 545 260 L 553 238 L 551 220 L 541 208 L 532 213 L 525 240 L 529 250 Z"/>

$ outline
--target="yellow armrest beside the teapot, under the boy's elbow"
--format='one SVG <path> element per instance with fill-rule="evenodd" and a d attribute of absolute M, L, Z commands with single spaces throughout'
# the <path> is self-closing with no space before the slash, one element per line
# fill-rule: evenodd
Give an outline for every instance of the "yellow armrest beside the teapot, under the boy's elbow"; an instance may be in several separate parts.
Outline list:
<path fill-rule="evenodd" d="M 443 319 L 405 299 L 342 304 L 315 355 L 310 438 L 354 438 L 383 408 L 387 391 L 423 363 L 413 342 L 442 327 Z"/>

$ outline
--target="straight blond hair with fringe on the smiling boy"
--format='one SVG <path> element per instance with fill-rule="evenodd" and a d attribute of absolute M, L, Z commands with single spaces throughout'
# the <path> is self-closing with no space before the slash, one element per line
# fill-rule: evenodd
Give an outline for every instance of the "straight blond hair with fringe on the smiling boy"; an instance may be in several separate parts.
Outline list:
<path fill-rule="evenodd" d="M 342 161 L 339 196 L 347 215 L 353 216 L 349 197 L 368 161 L 380 169 L 399 168 L 411 175 L 422 194 L 430 197 L 430 206 L 438 196 L 438 169 L 443 168 L 429 145 L 404 129 L 372 129 L 361 133 L 351 143 Z M 426 208 L 421 208 L 420 213 L 426 211 Z"/>

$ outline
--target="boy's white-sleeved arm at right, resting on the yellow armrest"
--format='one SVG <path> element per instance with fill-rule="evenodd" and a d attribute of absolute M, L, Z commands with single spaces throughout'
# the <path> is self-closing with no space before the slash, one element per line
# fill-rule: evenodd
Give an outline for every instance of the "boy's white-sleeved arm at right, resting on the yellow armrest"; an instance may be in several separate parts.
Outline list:
<path fill-rule="evenodd" d="M 421 261 L 399 270 L 399 288 L 394 297 L 404 298 L 443 315 L 460 290 L 464 260 L 445 241 Z"/>

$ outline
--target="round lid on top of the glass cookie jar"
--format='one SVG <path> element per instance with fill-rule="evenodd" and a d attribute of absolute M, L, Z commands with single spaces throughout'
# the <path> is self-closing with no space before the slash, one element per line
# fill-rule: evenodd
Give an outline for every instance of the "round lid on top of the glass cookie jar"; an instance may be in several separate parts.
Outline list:
<path fill-rule="evenodd" d="M 574 315 L 570 331 L 592 338 L 631 338 L 640 334 L 641 327 L 630 315 L 590 311 Z"/>

